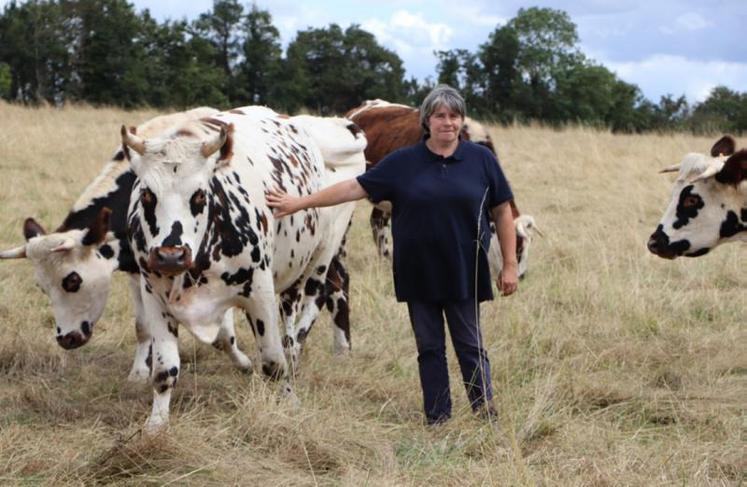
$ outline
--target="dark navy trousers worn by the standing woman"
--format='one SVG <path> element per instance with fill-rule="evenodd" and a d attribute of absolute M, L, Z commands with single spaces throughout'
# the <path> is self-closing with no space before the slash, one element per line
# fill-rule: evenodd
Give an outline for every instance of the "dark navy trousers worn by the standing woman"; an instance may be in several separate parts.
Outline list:
<path fill-rule="evenodd" d="M 472 409 L 493 397 L 490 381 L 490 362 L 475 314 L 475 301 L 457 303 L 408 302 L 410 323 L 418 347 L 420 385 L 423 388 L 423 407 L 429 424 L 451 417 L 451 392 L 446 364 L 446 335 L 444 315 L 449 325 L 462 379 Z"/>

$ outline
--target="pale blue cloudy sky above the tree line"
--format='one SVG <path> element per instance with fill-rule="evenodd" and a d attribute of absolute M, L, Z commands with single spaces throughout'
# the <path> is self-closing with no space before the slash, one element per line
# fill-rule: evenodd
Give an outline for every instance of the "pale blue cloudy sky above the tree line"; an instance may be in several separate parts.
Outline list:
<path fill-rule="evenodd" d="M 130 0 L 158 20 L 195 19 L 212 0 Z M 250 5 L 251 0 L 245 0 Z M 0 0 L 0 5 L 7 0 Z M 747 0 L 255 0 L 283 46 L 299 30 L 359 24 L 404 62 L 407 77 L 435 78 L 434 50 L 476 52 L 519 8 L 566 11 L 581 51 L 658 102 L 704 100 L 717 85 L 747 91 Z M 739 34 L 743 32 L 743 34 Z"/>

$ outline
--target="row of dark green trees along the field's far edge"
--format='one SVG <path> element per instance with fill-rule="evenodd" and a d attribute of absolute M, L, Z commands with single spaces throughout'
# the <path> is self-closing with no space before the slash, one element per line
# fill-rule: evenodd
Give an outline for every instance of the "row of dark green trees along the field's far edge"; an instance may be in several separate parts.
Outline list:
<path fill-rule="evenodd" d="M 747 130 L 747 93 L 720 86 L 694 105 L 672 95 L 654 103 L 578 44 L 566 12 L 520 9 L 474 52 L 438 51 L 435 80 L 419 81 L 358 25 L 310 27 L 283 50 L 270 12 L 239 0 L 214 0 L 196 19 L 163 22 L 126 0 L 12 1 L 0 15 L 0 96 L 339 114 L 373 98 L 417 105 L 439 82 L 459 89 L 472 115 L 502 123 Z"/>

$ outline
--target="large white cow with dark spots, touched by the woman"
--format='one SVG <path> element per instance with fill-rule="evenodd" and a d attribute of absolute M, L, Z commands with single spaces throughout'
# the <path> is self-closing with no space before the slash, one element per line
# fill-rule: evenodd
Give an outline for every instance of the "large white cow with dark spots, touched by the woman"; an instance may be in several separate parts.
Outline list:
<path fill-rule="evenodd" d="M 271 187 L 308 194 L 360 174 L 365 138 L 341 120 L 344 125 L 335 125 L 329 140 L 354 147 L 350 153 L 357 157 L 334 170 L 325 169 L 317 143 L 301 122 L 262 107 L 181 124 L 151 139 L 122 128 L 138 176 L 130 243 L 153 337 L 148 429 L 168 420 L 179 376 L 179 323 L 210 342 L 217 328 L 205 324 L 215 323 L 232 306 L 244 309 L 263 372 L 287 378 L 276 293 L 295 289 L 311 295 L 323 285 L 354 205 L 310 209 L 276 221 L 264 194 Z M 310 307 L 303 297 L 298 302 L 285 310 L 286 329 L 296 311 L 303 315 Z M 290 391 L 289 383 L 284 389 Z"/>

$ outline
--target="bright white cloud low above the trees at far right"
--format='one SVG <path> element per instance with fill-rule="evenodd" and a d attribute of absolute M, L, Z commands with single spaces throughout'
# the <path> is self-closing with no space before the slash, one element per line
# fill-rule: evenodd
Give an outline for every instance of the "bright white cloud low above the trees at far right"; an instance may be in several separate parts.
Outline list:
<path fill-rule="evenodd" d="M 604 61 L 604 64 L 621 79 L 637 84 L 653 102 L 666 94 L 684 94 L 690 102 L 703 101 L 718 85 L 737 91 L 747 88 L 747 63 L 657 54 L 642 61 Z"/>

